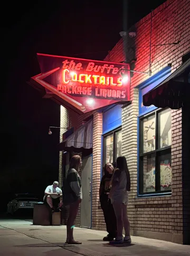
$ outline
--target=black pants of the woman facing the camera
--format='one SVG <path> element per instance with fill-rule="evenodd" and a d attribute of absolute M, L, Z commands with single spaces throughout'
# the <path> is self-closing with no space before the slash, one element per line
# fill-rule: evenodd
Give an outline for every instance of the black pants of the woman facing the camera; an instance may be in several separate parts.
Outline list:
<path fill-rule="evenodd" d="M 116 215 L 113 210 L 113 205 L 111 204 L 111 200 L 108 198 L 108 195 L 103 194 L 100 198 L 101 208 L 103 211 L 103 215 L 105 217 L 106 229 L 108 235 L 111 238 L 116 238 L 117 236 L 117 220 Z"/>

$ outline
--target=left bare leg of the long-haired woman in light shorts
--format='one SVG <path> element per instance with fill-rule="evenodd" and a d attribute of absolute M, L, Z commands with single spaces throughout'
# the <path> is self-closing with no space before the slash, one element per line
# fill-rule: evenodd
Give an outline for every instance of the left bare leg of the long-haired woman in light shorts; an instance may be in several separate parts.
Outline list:
<path fill-rule="evenodd" d="M 117 239 L 120 240 L 122 239 L 122 231 L 124 228 L 124 222 L 122 220 L 122 204 L 119 204 L 117 202 L 113 203 L 113 209 L 116 214 L 116 219 L 117 219 L 117 230 L 118 230 L 118 236 Z"/>

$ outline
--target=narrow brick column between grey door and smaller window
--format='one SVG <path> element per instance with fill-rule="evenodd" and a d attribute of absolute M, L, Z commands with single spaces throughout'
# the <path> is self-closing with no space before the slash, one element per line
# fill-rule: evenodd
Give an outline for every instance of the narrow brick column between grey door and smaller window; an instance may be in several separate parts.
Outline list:
<path fill-rule="evenodd" d="M 99 209 L 99 187 L 101 174 L 102 113 L 93 114 L 93 164 L 92 164 L 92 229 L 101 225 L 102 211 Z"/>

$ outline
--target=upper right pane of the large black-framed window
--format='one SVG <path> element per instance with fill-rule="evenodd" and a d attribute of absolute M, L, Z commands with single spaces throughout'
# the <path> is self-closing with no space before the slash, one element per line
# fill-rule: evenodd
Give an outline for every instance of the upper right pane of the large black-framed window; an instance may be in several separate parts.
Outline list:
<path fill-rule="evenodd" d="M 166 109 L 159 113 L 159 148 L 168 147 L 172 144 L 171 136 L 171 111 Z"/>

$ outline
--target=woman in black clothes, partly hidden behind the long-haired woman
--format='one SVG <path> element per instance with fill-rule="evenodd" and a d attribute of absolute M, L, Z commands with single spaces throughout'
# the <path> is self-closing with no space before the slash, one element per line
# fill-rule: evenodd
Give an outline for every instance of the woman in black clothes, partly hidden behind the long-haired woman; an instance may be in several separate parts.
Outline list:
<path fill-rule="evenodd" d="M 117 237 L 117 221 L 113 210 L 111 200 L 108 198 L 111 185 L 111 177 L 113 175 L 113 164 L 106 164 L 104 167 L 105 175 L 103 175 L 100 183 L 99 195 L 100 203 L 105 217 L 106 229 L 108 235 L 103 238 L 103 241 L 112 241 Z"/>

